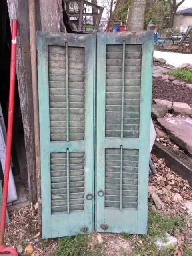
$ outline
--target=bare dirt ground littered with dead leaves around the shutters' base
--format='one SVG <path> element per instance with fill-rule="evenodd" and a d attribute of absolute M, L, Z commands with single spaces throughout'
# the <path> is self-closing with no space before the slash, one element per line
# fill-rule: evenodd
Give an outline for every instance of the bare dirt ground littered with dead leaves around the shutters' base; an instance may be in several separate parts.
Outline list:
<path fill-rule="evenodd" d="M 152 161 L 156 168 L 156 175 L 150 174 L 149 176 L 149 188 L 159 193 L 158 196 L 164 203 L 164 208 L 158 210 L 152 197 L 149 198 L 149 207 L 152 206 L 155 209 L 156 213 L 153 216 L 153 219 L 150 220 L 151 212 L 149 212 L 149 220 L 152 223 L 148 222 L 148 235 L 147 236 L 138 236 L 129 234 L 110 234 L 110 233 L 98 233 L 93 232 L 88 235 L 88 245 L 86 246 L 86 252 L 80 253 L 79 251 L 75 253 L 77 248 L 74 249 L 74 244 L 70 248 L 67 248 L 69 243 L 69 237 L 66 237 L 66 240 L 62 240 L 63 245 L 66 246 L 65 249 L 60 251 L 60 240 L 59 239 L 47 239 L 42 240 L 40 238 L 40 232 L 38 229 L 37 222 L 37 209 L 35 205 L 22 208 L 20 210 L 14 210 L 9 213 L 10 222 L 6 224 L 6 246 L 11 246 L 18 248 L 22 246 L 22 253 L 19 253 L 19 256 L 31 255 L 31 256 L 190 256 L 192 255 L 192 218 L 188 215 L 186 207 L 184 207 L 186 200 L 192 200 L 192 190 L 186 180 L 183 180 L 180 176 L 172 172 L 170 168 L 166 166 L 166 163 L 163 159 L 158 159 L 156 156 L 151 154 Z M 164 188 L 166 188 L 166 194 L 164 194 Z M 174 196 L 178 193 L 182 197 L 180 200 L 175 201 Z M 159 223 L 153 223 L 156 221 L 156 216 L 161 216 L 164 214 Z M 186 216 L 186 217 L 182 217 Z M 180 221 L 177 218 L 184 218 L 184 226 L 181 226 L 178 229 L 178 233 L 173 233 L 172 229 L 172 220 L 167 218 L 173 218 L 175 222 Z M 152 234 L 158 231 L 158 226 L 164 222 L 170 223 L 170 227 L 166 227 L 169 234 L 172 234 L 178 239 L 178 245 L 172 250 L 170 254 L 159 254 L 154 253 L 151 247 L 148 245 L 151 244 L 150 239 Z M 155 226 L 154 226 L 155 225 Z M 162 226 L 163 227 L 163 226 Z M 160 226 L 160 230 L 162 228 Z M 165 230 L 166 230 L 165 229 Z M 161 231 L 158 232 L 161 232 Z M 164 231 L 165 231 L 164 230 Z M 82 237 L 82 236 L 80 236 Z M 186 249 L 186 242 L 188 241 L 188 248 Z M 81 244 L 81 242 L 80 242 Z M 79 246 L 80 246 L 79 244 Z M 32 248 L 32 251 L 28 254 L 25 252 L 26 248 Z M 76 245 L 78 247 L 78 244 Z M 56 251 L 55 251 L 56 250 Z M 136 250 L 138 253 L 132 253 Z M 72 251 L 72 252 L 71 252 Z M 186 252 L 189 251 L 189 254 Z M 143 252 L 143 254 L 142 254 Z M 145 253 L 144 253 L 145 252 Z M 132 253 L 132 254 L 130 254 Z"/>

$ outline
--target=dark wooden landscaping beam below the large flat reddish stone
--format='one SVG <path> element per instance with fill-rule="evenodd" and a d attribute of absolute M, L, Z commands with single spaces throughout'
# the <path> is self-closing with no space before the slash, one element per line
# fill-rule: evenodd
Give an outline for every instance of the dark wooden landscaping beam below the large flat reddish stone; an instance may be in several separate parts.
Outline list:
<path fill-rule="evenodd" d="M 192 186 L 192 158 L 179 150 L 165 147 L 155 142 L 152 148 L 152 154 L 158 158 L 164 158 L 166 165 L 183 179 L 188 180 Z"/>

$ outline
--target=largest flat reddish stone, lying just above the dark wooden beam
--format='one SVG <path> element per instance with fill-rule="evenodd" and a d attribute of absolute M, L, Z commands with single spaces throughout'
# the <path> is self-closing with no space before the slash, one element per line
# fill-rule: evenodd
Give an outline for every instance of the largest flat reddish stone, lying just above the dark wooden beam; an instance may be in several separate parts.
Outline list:
<path fill-rule="evenodd" d="M 169 135 L 170 140 L 192 154 L 192 118 L 165 117 L 158 118 L 157 122 Z"/>

